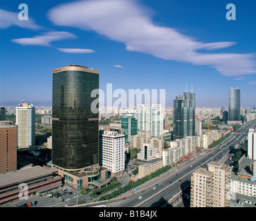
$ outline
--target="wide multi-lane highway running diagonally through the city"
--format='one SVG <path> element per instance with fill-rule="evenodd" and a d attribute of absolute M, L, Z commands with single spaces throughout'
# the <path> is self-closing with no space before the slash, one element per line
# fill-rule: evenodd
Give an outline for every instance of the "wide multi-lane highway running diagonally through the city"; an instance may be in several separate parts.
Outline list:
<path fill-rule="evenodd" d="M 248 129 L 255 127 L 255 125 L 256 122 L 254 121 L 241 126 L 236 133 L 232 133 L 218 146 L 210 151 L 204 151 L 203 155 L 194 160 L 189 160 L 176 168 L 170 169 L 170 171 L 162 174 L 160 177 L 149 180 L 147 183 L 139 186 L 140 188 L 137 191 L 133 190 L 132 192 L 130 191 L 131 193 L 126 193 L 120 198 L 87 206 L 97 206 L 99 204 L 117 207 L 165 206 L 174 195 L 190 186 L 190 177 L 193 171 L 199 167 L 208 168 L 208 163 L 212 161 L 225 162 L 228 159 L 230 149 L 237 147 L 248 135 Z M 141 198 L 138 199 L 140 196 Z"/>

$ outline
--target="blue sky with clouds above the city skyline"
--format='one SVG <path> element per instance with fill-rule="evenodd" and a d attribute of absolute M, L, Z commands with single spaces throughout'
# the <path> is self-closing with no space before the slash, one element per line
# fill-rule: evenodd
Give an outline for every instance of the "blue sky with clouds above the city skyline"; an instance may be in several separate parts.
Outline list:
<path fill-rule="evenodd" d="M 186 84 L 198 107 L 227 107 L 230 87 L 256 106 L 255 9 L 254 0 L 1 0 L 0 103 L 51 101 L 52 70 L 78 64 L 100 70 L 104 91 L 165 89 L 167 106 Z"/>

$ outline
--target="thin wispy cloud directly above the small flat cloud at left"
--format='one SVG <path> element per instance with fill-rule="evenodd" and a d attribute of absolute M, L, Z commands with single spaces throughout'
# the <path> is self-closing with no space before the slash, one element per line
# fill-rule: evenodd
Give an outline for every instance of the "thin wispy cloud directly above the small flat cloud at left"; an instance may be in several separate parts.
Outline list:
<path fill-rule="evenodd" d="M 52 41 L 72 39 L 75 37 L 76 36 L 71 32 L 46 32 L 43 35 L 37 35 L 30 38 L 12 39 L 11 41 L 24 46 L 51 46 Z"/>

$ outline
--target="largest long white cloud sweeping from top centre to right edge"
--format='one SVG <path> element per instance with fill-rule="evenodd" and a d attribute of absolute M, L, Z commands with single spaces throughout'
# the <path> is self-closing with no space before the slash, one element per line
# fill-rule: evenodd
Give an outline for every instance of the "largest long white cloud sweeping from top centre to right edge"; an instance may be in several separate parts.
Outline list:
<path fill-rule="evenodd" d="M 156 26 L 151 15 L 147 8 L 134 0 L 89 0 L 57 6 L 48 12 L 48 19 L 58 26 L 93 30 L 125 44 L 130 51 L 210 66 L 221 75 L 243 76 L 256 73 L 253 54 L 209 52 L 233 46 L 235 42 L 196 41 L 174 28 Z"/>

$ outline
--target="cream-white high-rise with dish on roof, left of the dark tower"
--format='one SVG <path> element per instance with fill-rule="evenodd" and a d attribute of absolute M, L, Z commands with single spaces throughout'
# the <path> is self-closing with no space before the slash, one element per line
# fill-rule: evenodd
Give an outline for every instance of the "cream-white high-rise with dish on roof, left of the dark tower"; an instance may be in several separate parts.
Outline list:
<path fill-rule="evenodd" d="M 35 145 L 35 106 L 21 103 L 16 108 L 17 146 L 28 148 Z"/>

